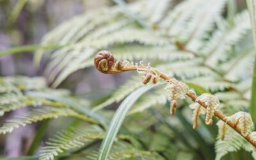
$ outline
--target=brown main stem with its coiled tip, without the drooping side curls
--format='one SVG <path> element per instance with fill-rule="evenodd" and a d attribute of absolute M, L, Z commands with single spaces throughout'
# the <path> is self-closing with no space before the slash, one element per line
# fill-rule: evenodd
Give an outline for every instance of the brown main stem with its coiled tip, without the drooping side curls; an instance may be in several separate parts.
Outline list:
<path fill-rule="evenodd" d="M 106 63 L 106 60 L 107 60 L 107 63 Z M 140 67 L 145 67 L 144 65 L 134 65 L 133 63 L 129 63 L 128 65 L 118 64 L 118 67 L 115 67 L 115 64 L 116 64 L 115 59 L 114 59 L 113 55 L 111 54 L 111 52 L 109 52 L 109 51 L 100 51 L 96 55 L 96 57 L 94 59 L 94 63 L 95 63 L 95 67 L 100 72 L 103 72 L 104 74 L 117 74 L 120 72 L 137 70 Z M 120 62 L 118 62 L 118 63 L 120 63 Z M 148 70 L 149 69 L 150 68 L 148 68 Z M 158 70 L 156 70 L 156 72 L 159 77 L 164 79 L 164 81 L 170 82 L 173 80 L 173 78 L 168 77 L 166 74 L 159 72 Z M 190 97 L 191 100 L 193 100 L 194 102 L 197 102 L 205 109 L 207 108 L 207 105 L 205 104 L 205 102 L 203 102 L 202 100 L 196 100 L 198 98 L 198 96 L 195 95 L 195 93 L 188 91 L 186 93 L 186 95 L 188 97 Z M 241 131 L 241 129 L 239 129 L 239 127 L 237 127 L 237 124 L 232 122 L 231 120 L 228 120 L 228 118 L 225 115 L 223 115 L 223 113 L 221 113 L 221 111 L 219 111 L 219 110 L 214 111 L 214 115 L 217 116 L 218 118 L 220 118 L 220 120 L 222 120 L 223 122 L 225 122 L 225 124 L 232 127 L 232 129 L 234 129 L 241 136 L 243 136 L 243 138 L 245 138 L 249 143 L 251 143 L 254 147 L 256 147 L 256 141 L 253 140 L 252 136 L 250 136 L 250 135 L 244 136 L 243 131 Z"/>

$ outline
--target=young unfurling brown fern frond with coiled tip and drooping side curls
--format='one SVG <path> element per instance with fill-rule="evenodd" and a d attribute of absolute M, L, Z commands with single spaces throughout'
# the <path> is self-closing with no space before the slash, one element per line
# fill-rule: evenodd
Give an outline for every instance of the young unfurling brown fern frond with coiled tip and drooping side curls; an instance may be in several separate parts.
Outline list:
<path fill-rule="evenodd" d="M 163 79 L 168 83 L 165 90 L 170 94 L 170 113 L 172 115 L 175 113 L 177 99 L 185 99 L 187 96 L 195 102 L 195 104 L 191 105 L 191 108 L 195 109 L 193 113 L 194 129 L 196 129 L 198 126 L 198 116 L 200 113 L 206 114 L 205 124 L 207 125 L 212 124 L 212 116 L 215 115 L 221 120 L 221 122 L 218 122 L 217 125 L 219 126 L 219 132 L 222 140 L 225 136 L 225 125 L 227 124 L 230 128 L 234 129 L 241 136 L 243 136 L 245 140 L 251 143 L 253 147 L 256 147 L 256 141 L 250 135 L 251 127 L 253 125 L 250 114 L 240 111 L 232 116 L 223 115 L 219 109 L 220 101 L 214 95 L 204 93 L 197 96 L 193 91 L 189 90 L 187 84 L 178 81 L 174 77 L 167 76 L 156 68 L 150 67 L 150 64 L 144 65 L 141 62 L 140 65 L 138 65 L 138 63 L 129 61 L 122 62 L 120 60 L 115 62 L 113 54 L 111 54 L 109 51 L 100 51 L 94 59 L 94 64 L 95 67 L 104 74 L 116 74 L 129 70 L 137 70 L 139 74 L 142 74 L 142 82 L 144 84 L 147 84 L 152 77 L 159 77 Z"/>

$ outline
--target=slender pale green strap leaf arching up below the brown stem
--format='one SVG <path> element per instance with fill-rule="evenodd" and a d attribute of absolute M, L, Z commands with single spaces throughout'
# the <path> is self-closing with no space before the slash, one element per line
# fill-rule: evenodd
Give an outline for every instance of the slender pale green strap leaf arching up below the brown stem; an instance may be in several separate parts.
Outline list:
<path fill-rule="evenodd" d="M 109 127 L 106 131 L 106 136 L 104 140 L 102 141 L 102 144 L 100 146 L 100 151 L 99 151 L 99 156 L 98 160 L 105 160 L 108 157 L 109 151 L 111 149 L 111 146 L 113 145 L 113 142 L 115 140 L 116 134 L 118 133 L 122 122 L 124 121 L 125 115 L 127 111 L 131 108 L 131 106 L 136 102 L 139 97 L 147 92 L 148 90 L 159 86 L 162 83 L 158 83 L 156 85 L 147 85 L 147 86 L 142 86 L 138 90 L 135 90 L 132 92 L 119 106 L 119 108 L 116 110 L 115 115 L 113 116 Z"/>

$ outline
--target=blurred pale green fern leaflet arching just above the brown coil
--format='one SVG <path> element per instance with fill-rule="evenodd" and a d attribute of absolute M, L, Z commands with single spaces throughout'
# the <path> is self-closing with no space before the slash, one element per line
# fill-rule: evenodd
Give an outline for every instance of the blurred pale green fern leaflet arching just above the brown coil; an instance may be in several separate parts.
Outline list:
<path fill-rule="evenodd" d="M 83 41 L 73 45 L 72 47 L 69 47 L 69 49 L 63 48 L 59 51 L 56 51 L 55 53 L 58 53 L 57 57 L 54 56 L 55 53 L 52 54 L 54 58 L 51 60 L 46 69 L 47 72 L 51 73 L 49 78 L 50 80 L 55 79 L 55 77 L 60 72 L 68 73 L 65 70 L 70 70 L 68 69 L 68 67 L 70 67 L 70 65 L 68 65 L 70 64 L 70 61 L 72 61 L 72 68 L 74 68 L 72 69 L 73 72 L 73 70 L 78 70 L 81 68 L 81 63 L 88 60 L 88 58 L 90 58 L 90 56 L 92 56 L 95 51 L 102 48 L 107 48 L 111 45 L 126 44 L 132 42 L 138 42 L 143 45 L 168 44 L 166 39 L 152 34 L 149 31 L 129 27 L 120 29 L 120 31 L 115 31 L 115 33 L 104 35 L 95 40 L 86 38 Z M 67 76 L 63 76 L 63 78 L 65 77 Z M 58 80 L 59 83 L 63 81 L 63 78 Z M 59 83 L 56 83 L 56 85 Z"/>

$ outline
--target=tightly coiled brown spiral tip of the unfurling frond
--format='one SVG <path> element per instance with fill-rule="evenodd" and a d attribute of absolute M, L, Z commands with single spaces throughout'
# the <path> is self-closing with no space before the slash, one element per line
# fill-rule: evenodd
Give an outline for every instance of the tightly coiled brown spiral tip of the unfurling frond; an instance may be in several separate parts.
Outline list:
<path fill-rule="evenodd" d="M 108 72 L 115 63 L 115 58 L 109 51 L 100 51 L 94 58 L 94 65 L 100 72 Z"/>

